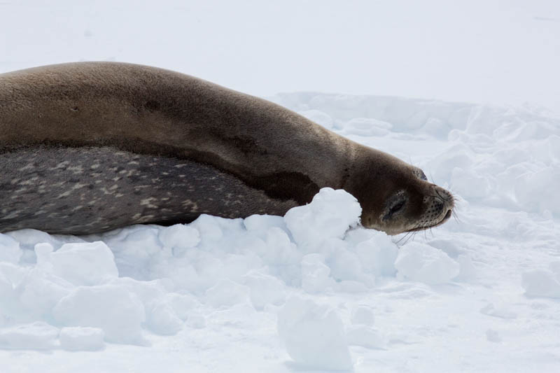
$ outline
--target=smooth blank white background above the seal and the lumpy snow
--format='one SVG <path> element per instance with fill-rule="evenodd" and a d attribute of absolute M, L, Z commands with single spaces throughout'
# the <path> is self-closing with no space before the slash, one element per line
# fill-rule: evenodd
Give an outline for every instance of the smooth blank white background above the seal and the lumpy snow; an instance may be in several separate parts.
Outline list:
<path fill-rule="evenodd" d="M 560 111 L 560 1 L 0 1 L 0 72 L 110 59 L 249 94 Z"/>

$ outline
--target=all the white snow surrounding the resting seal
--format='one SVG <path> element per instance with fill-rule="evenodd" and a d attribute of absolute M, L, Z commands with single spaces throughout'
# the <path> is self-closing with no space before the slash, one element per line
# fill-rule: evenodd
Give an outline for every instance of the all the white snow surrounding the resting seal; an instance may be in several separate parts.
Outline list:
<path fill-rule="evenodd" d="M 558 3 L 204 4 L 3 1 L 0 71 L 360 93 L 268 98 L 421 167 L 457 220 L 389 237 L 325 188 L 286 216 L 0 234 L 0 372 L 558 372 Z"/>

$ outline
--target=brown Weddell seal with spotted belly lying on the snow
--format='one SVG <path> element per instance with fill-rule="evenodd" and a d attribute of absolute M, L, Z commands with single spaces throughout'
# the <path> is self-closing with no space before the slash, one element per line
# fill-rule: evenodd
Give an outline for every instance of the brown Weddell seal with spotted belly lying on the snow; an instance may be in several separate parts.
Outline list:
<path fill-rule="evenodd" d="M 283 215 L 350 192 L 365 227 L 440 225 L 421 169 L 247 94 L 154 67 L 78 62 L 0 74 L 0 232 Z"/>

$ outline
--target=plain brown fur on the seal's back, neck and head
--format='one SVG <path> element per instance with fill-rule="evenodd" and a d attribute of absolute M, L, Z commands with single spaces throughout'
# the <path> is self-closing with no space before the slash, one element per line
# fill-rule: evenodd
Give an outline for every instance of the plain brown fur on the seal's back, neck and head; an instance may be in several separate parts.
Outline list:
<path fill-rule="evenodd" d="M 428 209 L 423 197 L 439 188 L 409 164 L 269 101 L 134 64 L 79 62 L 0 74 L 0 153 L 37 146 L 106 146 L 195 161 L 295 204 L 310 202 L 323 187 L 344 188 L 362 205 L 363 224 L 389 234 L 413 229 Z M 405 214 L 382 222 L 397 190 L 408 195 Z M 443 215 L 453 206 L 448 195 Z M 268 212 L 285 213 L 283 206 Z M 259 212 L 253 210 L 240 217 Z"/>

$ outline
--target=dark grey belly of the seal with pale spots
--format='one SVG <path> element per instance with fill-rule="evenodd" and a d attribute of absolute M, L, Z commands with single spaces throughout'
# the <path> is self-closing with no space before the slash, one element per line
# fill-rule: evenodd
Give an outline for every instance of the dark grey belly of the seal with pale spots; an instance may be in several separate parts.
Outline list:
<path fill-rule="evenodd" d="M 138 223 L 285 213 L 294 201 L 215 167 L 111 147 L 38 146 L 0 154 L 0 232 L 89 234 Z"/>

